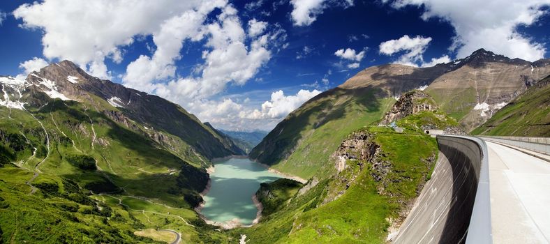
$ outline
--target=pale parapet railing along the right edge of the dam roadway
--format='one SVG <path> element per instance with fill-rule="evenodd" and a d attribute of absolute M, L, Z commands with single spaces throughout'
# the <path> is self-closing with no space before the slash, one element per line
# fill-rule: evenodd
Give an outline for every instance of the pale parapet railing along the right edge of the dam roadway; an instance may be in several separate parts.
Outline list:
<path fill-rule="evenodd" d="M 491 137 L 479 136 L 489 141 L 500 142 L 519 148 L 550 155 L 550 137 Z"/>

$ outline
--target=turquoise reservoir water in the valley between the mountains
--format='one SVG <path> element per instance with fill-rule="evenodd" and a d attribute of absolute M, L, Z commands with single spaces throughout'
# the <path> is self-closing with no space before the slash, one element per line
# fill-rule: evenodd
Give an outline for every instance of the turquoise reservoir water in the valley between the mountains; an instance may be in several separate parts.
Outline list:
<path fill-rule="evenodd" d="M 260 183 L 275 181 L 281 176 L 248 158 L 230 158 L 214 163 L 210 174 L 211 186 L 200 211 L 214 222 L 235 222 L 248 225 L 256 218 L 258 209 L 252 197 Z"/>

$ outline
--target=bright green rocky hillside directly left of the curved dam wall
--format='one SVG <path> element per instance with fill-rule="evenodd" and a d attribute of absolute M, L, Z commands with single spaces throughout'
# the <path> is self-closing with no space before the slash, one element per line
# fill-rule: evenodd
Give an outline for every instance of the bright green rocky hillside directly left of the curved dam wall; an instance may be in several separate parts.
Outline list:
<path fill-rule="evenodd" d="M 349 97 L 339 98 L 350 101 Z M 405 96 L 402 98 L 405 99 Z M 300 118 L 300 113 L 320 109 L 315 106 L 322 106 L 322 99 L 330 100 L 326 96 L 313 99 L 292 116 Z M 394 103 L 393 99 L 380 101 L 387 102 L 388 107 L 383 109 L 384 112 Z M 398 108 L 407 111 L 406 106 L 435 105 L 429 96 L 414 98 L 412 102 L 400 101 L 399 106 L 396 104 L 397 107 L 393 107 L 392 111 Z M 314 107 L 308 108 L 308 105 Z M 329 105 L 339 108 L 337 102 Z M 343 107 L 351 108 L 348 111 L 358 116 L 354 118 L 343 113 L 341 117 L 336 116 L 327 121 L 327 130 L 317 129 L 311 136 L 315 138 L 315 133 L 322 131 L 320 135 L 323 137 L 311 141 L 309 138 L 301 139 L 301 144 L 295 147 L 297 149 L 286 161 L 288 168 L 278 167 L 281 164 L 285 166 L 285 161 L 274 165 L 276 169 L 290 172 L 309 172 L 307 175 L 313 174 L 309 182 L 290 199 L 284 195 L 269 194 L 269 189 L 294 192 L 294 188 L 285 187 L 282 183 L 262 185 L 257 192 L 258 199 L 267 206 L 262 220 L 251 228 L 230 231 L 230 235 L 237 238 L 240 234 L 246 234 L 247 243 L 385 243 L 389 232 L 399 227 L 406 217 L 405 214 L 414 204 L 424 183 L 429 180 L 437 160 L 436 139 L 425 135 L 423 129 L 460 130 L 461 125 L 445 112 L 435 109 L 397 119 L 396 124 L 405 129 L 403 133 L 398 133 L 385 126 L 366 125 L 378 122 L 383 113 L 357 109 L 359 106 L 355 102 L 349 102 Z M 295 125 L 297 121 L 293 121 L 292 116 L 287 118 L 287 123 Z M 348 132 L 345 127 L 336 127 L 352 127 L 355 123 L 362 125 L 357 125 L 359 128 L 352 132 Z M 284 135 L 287 128 L 279 129 L 283 132 L 277 129 L 274 132 Z M 329 136 L 335 138 L 329 139 Z M 336 141 L 338 137 L 343 138 L 339 142 L 331 142 L 336 144 L 335 148 L 326 146 L 326 141 Z M 301 146 L 315 150 L 318 155 L 302 153 Z M 293 157 L 297 158 L 290 161 Z M 310 157 L 317 157 L 314 161 L 318 163 L 317 171 L 311 171 L 311 164 L 299 163 Z M 342 157 L 345 167 L 341 165 Z M 290 162 L 294 163 L 293 167 Z"/>

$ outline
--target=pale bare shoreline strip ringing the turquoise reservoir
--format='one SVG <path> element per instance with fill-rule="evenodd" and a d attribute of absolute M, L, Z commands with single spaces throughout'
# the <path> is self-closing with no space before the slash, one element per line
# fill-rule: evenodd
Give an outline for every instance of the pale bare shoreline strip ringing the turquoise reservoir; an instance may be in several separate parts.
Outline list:
<path fill-rule="evenodd" d="M 284 174 L 281 171 L 270 168 L 269 165 L 266 165 L 264 163 L 258 162 L 256 160 L 252 160 L 251 158 L 248 158 L 247 155 L 230 155 L 230 156 L 223 157 L 223 158 L 214 158 L 214 159 L 211 160 L 211 162 L 212 163 L 222 162 L 222 161 L 225 161 L 225 160 L 230 160 L 231 158 L 247 158 L 251 162 L 255 162 L 258 165 L 261 165 L 262 167 L 265 167 L 265 169 L 267 169 L 267 171 L 269 171 L 271 173 L 274 173 L 274 174 L 277 174 L 278 176 L 281 176 L 281 178 L 288 178 L 288 179 L 291 179 L 293 181 L 298 181 L 300 183 L 307 183 L 307 181 L 303 178 L 300 178 L 298 176 L 292 176 L 290 174 Z M 211 165 L 206 170 L 207 170 L 207 173 L 210 176 L 210 174 L 213 174 L 216 171 L 216 167 L 215 167 L 215 165 Z M 208 192 L 210 191 L 211 185 L 212 185 L 211 178 L 209 178 L 208 183 L 205 186 L 205 190 L 202 190 L 202 192 L 200 192 L 201 197 L 205 197 L 208 194 Z M 260 187 L 260 185 L 258 185 L 258 188 L 259 187 Z M 213 220 L 209 220 L 208 218 L 206 218 L 205 215 L 203 215 L 201 213 L 202 208 L 204 208 L 204 206 L 206 204 L 206 201 L 204 201 L 204 200 L 199 204 L 199 206 L 196 206 L 194 208 L 194 210 L 198 214 L 199 218 L 204 220 L 207 224 L 211 224 L 211 225 L 214 225 L 214 226 L 217 226 L 217 227 L 221 227 L 222 229 L 234 229 L 234 228 L 237 228 L 237 227 L 252 227 L 254 224 L 258 224 L 258 222 L 260 222 L 260 219 L 262 218 L 262 211 L 263 211 L 263 204 L 262 204 L 262 202 L 260 202 L 258 200 L 258 197 L 256 196 L 255 193 L 252 195 L 252 201 L 254 203 L 254 206 L 257 209 L 256 218 L 253 220 L 252 224 L 247 224 L 247 225 L 244 225 L 241 222 L 239 222 L 239 220 L 237 218 L 235 218 L 233 220 L 228 220 L 228 221 L 225 221 L 225 222 L 216 222 L 216 221 L 213 221 Z"/>

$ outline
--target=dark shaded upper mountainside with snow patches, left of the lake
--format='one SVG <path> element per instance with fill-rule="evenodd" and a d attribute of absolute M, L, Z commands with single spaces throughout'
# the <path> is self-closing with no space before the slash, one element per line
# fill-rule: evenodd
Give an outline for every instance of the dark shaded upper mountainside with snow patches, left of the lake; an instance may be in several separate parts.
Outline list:
<path fill-rule="evenodd" d="M 74 77 L 76 83 L 67 77 Z M 108 80 L 92 77 L 70 61 L 52 64 L 29 75 L 31 82 L 40 83 L 40 77 L 51 80 L 57 91 L 68 98 L 88 103 L 103 110 L 118 110 L 128 119 L 145 127 L 179 137 L 186 144 L 205 157 L 221 158 L 227 155 L 241 155 L 230 141 L 218 135 L 210 127 L 203 125 L 193 114 L 181 106 L 158 96 L 149 95 L 134 89 L 126 88 Z M 110 103 L 105 106 L 98 98 Z"/>

